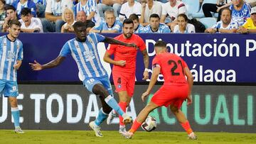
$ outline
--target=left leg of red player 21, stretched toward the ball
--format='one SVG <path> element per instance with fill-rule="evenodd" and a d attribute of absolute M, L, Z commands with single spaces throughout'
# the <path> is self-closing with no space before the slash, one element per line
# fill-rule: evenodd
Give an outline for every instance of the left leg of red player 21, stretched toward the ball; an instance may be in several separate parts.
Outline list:
<path fill-rule="evenodd" d="M 144 109 L 142 109 L 142 111 L 139 113 L 134 123 L 132 123 L 132 128 L 129 131 L 122 133 L 124 138 L 127 138 L 127 139 L 132 138 L 132 136 L 137 131 L 139 126 L 141 126 L 142 123 L 146 120 L 146 117 L 149 115 L 149 113 L 158 107 L 159 106 L 157 106 L 156 104 L 150 101 L 149 104 L 147 104 L 144 107 Z"/>

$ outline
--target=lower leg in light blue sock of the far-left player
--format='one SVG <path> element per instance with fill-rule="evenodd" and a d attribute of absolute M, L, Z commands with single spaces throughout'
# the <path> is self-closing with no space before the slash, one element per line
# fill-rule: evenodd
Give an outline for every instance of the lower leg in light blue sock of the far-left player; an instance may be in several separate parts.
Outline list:
<path fill-rule="evenodd" d="M 18 104 L 17 104 L 17 99 L 16 97 L 13 96 L 9 96 L 9 102 L 11 105 L 11 115 L 14 118 L 14 127 L 15 133 L 24 133 L 24 131 L 21 130 L 21 127 L 19 126 L 19 117 L 20 117 L 20 113 L 18 110 Z"/>

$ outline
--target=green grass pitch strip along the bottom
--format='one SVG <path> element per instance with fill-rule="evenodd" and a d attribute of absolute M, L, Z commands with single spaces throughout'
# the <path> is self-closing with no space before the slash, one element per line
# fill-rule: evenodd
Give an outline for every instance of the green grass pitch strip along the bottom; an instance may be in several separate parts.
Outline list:
<path fill-rule="evenodd" d="M 39 131 L 27 130 L 26 133 L 16 134 L 12 130 L 0 130 L 0 143 L 112 143 L 112 144 L 161 144 L 161 143 L 256 143 L 255 133 L 203 133 L 198 132 L 198 140 L 188 140 L 185 132 L 138 131 L 130 140 L 122 138 L 118 131 L 102 131 L 104 137 L 97 138 L 92 131 Z"/>

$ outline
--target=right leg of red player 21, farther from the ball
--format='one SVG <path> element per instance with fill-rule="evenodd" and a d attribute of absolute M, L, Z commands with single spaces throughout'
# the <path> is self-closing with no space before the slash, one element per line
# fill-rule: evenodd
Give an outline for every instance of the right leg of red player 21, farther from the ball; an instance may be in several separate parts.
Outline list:
<path fill-rule="evenodd" d="M 188 120 L 186 119 L 186 116 L 181 111 L 181 109 L 178 109 L 176 106 L 172 106 L 172 105 L 170 105 L 170 108 L 171 108 L 171 112 L 174 113 L 174 115 L 176 116 L 178 122 L 181 124 L 183 129 L 188 133 L 188 139 L 197 140 L 198 138 L 196 134 L 193 133 L 193 130 Z"/>

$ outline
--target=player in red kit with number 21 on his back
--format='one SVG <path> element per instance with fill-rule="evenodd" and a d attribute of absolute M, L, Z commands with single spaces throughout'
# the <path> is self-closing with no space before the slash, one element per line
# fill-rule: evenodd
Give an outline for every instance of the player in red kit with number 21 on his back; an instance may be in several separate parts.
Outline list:
<path fill-rule="evenodd" d="M 146 120 L 146 117 L 151 111 L 160 106 L 169 106 L 178 122 L 188 133 L 188 138 L 196 140 L 197 136 L 193 133 L 186 116 L 181 111 L 183 101 L 187 99 L 187 104 L 192 103 L 191 89 L 193 87 L 193 76 L 191 71 L 181 57 L 167 52 L 164 41 L 157 41 L 154 45 L 154 50 L 156 56 L 152 61 L 153 73 L 151 74 L 148 89 L 142 94 L 142 101 L 144 101 L 146 96 L 149 96 L 160 72 L 164 76 L 164 85 L 152 96 L 149 104 L 139 113 L 132 124 L 132 128 L 128 132 L 122 133 L 122 135 L 125 138 L 132 138 L 132 135 L 134 135 L 139 126 Z"/>

